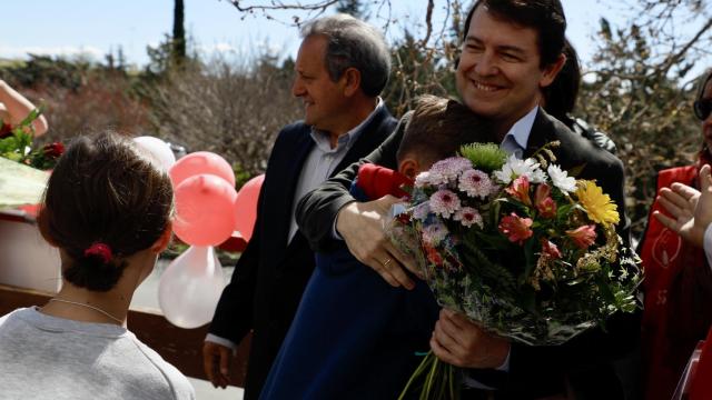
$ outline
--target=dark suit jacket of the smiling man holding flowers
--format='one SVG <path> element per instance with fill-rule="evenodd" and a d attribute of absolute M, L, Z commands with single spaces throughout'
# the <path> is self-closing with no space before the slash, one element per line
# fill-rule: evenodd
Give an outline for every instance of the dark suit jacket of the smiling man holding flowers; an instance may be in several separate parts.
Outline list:
<path fill-rule="evenodd" d="M 394 168 L 402 138 L 403 129 L 399 127 L 366 158 L 367 161 Z M 573 133 L 540 108 L 524 157 L 556 140 L 561 142 L 561 147 L 554 151 L 556 163 L 565 170 L 583 166 L 578 178 L 595 179 L 615 201 L 622 221 L 619 233 L 627 246 L 630 233 L 625 217 L 622 162 Z M 349 167 L 298 203 L 296 214 L 299 229 L 317 251 L 328 251 L 335 247 L 330 227 L 338 210 L 353 201 L 348 188 L 357 170 L 357 164 Z M 613 362 L 630 356 L 639 336 L 640 313 L 616 314 L 607 321 L 606 331 L 592 329 L 562 346 L 527 347 L 513 343 L 508 372 L 469 370 L 469 374 L 496 388 L 497 399 L 536 399 L 566 391 L 573 391 L 577 399 L 623 399 L 635 391 L 631 386 L 636 384 L 631 379 L 619 378 Z"/>

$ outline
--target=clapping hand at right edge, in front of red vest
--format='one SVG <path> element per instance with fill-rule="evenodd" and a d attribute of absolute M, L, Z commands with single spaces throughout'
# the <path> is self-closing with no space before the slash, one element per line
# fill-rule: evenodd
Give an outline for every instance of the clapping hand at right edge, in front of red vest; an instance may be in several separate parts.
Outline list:
<path fill-rule="evenodd" d="M 672 216 L 653 212 L 663 226 L 678 232 L 684 240 L 702 247 L 704 231 L 712 222 L 712 177 L 710 166 L 700 170 L 700 189 L 686 184 L 673 183 L 660 190 L 657 200 Z"/>

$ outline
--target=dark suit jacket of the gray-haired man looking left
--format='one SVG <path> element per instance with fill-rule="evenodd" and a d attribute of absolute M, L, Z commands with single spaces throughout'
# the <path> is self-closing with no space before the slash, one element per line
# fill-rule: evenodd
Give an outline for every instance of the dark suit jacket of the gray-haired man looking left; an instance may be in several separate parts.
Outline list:
<path fill-rule="evenodd" d="M 376 149 L 396 124 L 388 110 L 380 108 L 362 127 L 333 174 Z M 259 396 L 314 270 L 314 252 L 301 232 L 287 242 L 299 173 L 315 146 L 310 131 L 298 122 L 279 132 L 267 163 L 253 238 L 237 261 L 210 324 L 210 333 L 235 343 L 253 330 L 246 400 Z"/>

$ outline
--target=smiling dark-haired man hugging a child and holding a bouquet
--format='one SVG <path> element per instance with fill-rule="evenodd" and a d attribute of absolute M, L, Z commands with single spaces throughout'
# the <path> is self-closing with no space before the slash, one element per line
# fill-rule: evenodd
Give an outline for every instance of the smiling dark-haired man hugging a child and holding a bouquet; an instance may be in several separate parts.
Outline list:
<path fill-rule="evenodd" d="M 501 148 L 511 154 L 526 158 L 542 146 L 560 141 L 557 162 L 564 169 L 582 167 L 578 177 L 595 179 L 616 202 L 622 217 L 619 233 L 627 244 L 621 161 L 538 107 L 542 89 L 552 83 L 565 62 L 565 29 L 558 0 L 476 1 L 465 23 L 457 91 L 469 109 L 493 122 Z M 402 130 L 395 132 L 367 161 L 395 168 L 402 136 Z M 357 168 L 349 167 L 303 198 L 297 207 L 299 227 L 319 251 L 328 251 L 340 237 L 357 259 L 392 286 L 411 289 L 415 278 L 406 271 L 415 271 L 414 263 L 383 232 L 388 209 L 398 199 L 356 202 L 348 196 L 348 184 Z M 474 398 L 634 396 L 636 380 L 621 378 L 624 369 L 614 363 L 635 347 L 639 316 L 614 316 L 606 328 L 592 329 L 563 346 L 527 347 L 488 334 L 465 317 L 444 310 L 431 347 L 443 361 L 468 369 L 466 384 L 473 388 Z M 635 371 L 635 367 L 629 370 Z"/>

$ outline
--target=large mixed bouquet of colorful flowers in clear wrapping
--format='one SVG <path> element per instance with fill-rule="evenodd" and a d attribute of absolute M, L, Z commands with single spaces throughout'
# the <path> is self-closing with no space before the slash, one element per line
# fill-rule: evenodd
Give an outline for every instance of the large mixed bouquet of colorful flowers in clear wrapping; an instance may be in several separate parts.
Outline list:
<path fill-rule="evenodd" d="M 388 228 L 442 307 L 528 346 L 561 344 L 637 307 L 639 259 L 616 234 L 616 204 L 553 163 L 555 146 L 526 160 L 465 146 L 416 177 Z M 408 387 L 428 371 L 422 398 L 444 397 L 454 373 L 433 372 L 442 368 L 429 354 Z"/>

